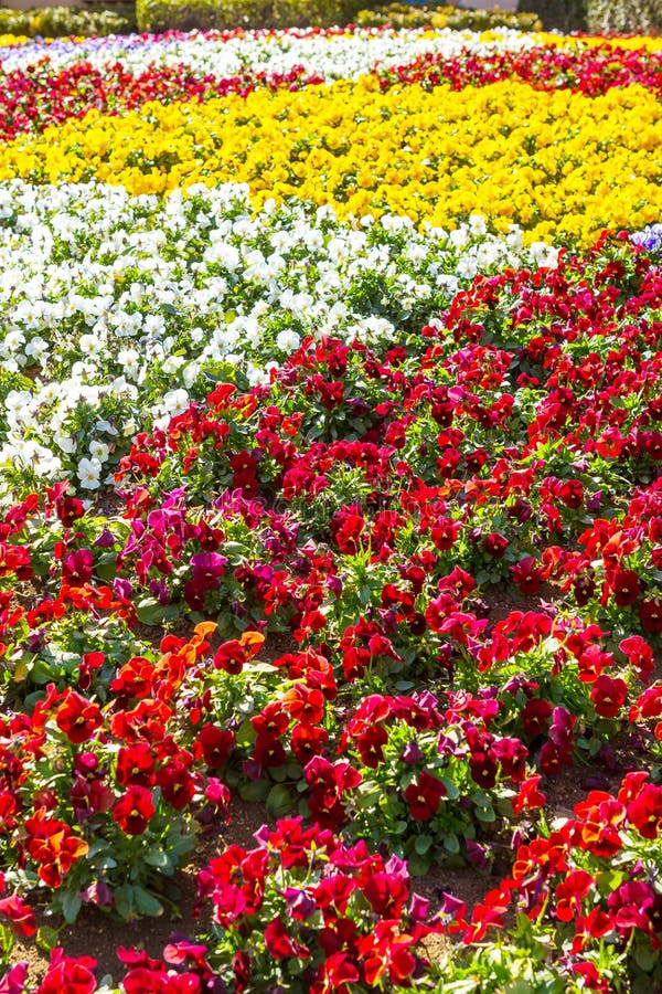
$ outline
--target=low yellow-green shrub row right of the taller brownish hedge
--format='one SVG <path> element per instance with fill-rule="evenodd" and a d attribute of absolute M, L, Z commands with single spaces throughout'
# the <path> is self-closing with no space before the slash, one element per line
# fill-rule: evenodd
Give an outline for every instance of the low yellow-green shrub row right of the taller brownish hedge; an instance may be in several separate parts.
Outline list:
<path fill-rule="evenodd" d="M 535 13 L 512 13 L 499 10 L 459 10 L 447 4 L 428 3 L 412 7 L 407 3 L 388 3 L 374 10 L 361 10 L 356 23 L 362 28 L 451 28 L 456 31 L 487 31 L 491 28 L 513 28 L 517 31 L 537 31 L 541 20 Z"/>

